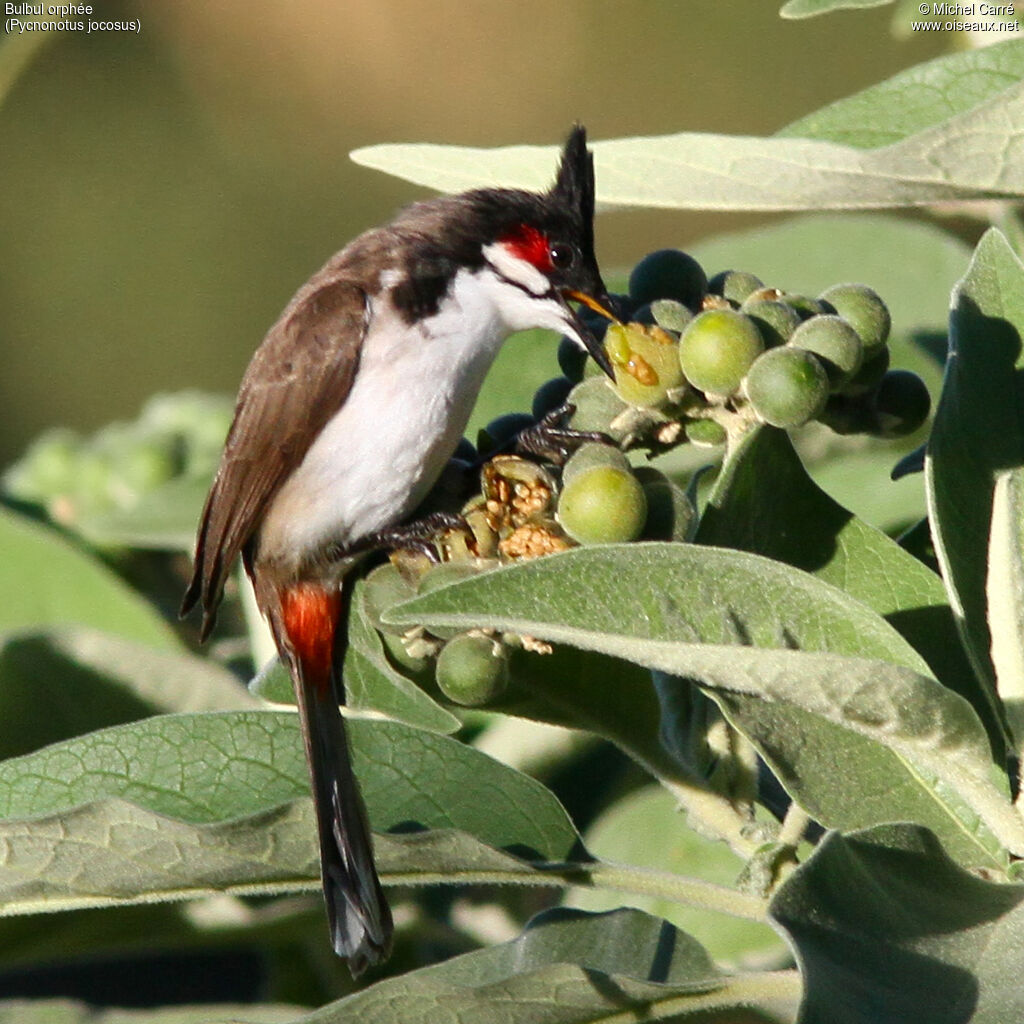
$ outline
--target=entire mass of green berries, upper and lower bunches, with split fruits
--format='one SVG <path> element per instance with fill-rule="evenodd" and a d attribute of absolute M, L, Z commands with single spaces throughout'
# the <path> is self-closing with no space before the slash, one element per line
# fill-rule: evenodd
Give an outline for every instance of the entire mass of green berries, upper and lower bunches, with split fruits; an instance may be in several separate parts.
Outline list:
<path fill-rule="evenodd" d="M 564 376 L 538 389 L 531 414 L 493 420 L 449 467 L 463 480 L 480 467 L 480 486 L 468 501 L 453 501 L 457 490 L 450 490 L 446 507 L 461 509 L 465 526 L 432 539 L 440 564 L 395 552 L 368 577 L 367 608 L 391 655 L 456 703 L 496 700 L 512 652 L 543 645 L 493 630 L 396 629 L 381 612 L 575 545 L 688 539 L 695 520 L 689 498 L 653 467 L 631 465 L 627 450 L 718 444 L 758 424 L 788 428 L 812 419 L 844 433 L 893 437 L 928 416 L 920 378 L 889 370 L 889 311 L 863 285 L 837 285 L 812 299 L 735 270 L 709 281 L 690 256 L 663 250 L 637 264 L 629 290 L 615 297 L 617 319 L 585 314 L 603 336 L 614 382 L 563 339 Z M 613 443 L 583 443 L 561 465 L 504 454 L 566 401 L 575 407 L 571 428 Z"/>

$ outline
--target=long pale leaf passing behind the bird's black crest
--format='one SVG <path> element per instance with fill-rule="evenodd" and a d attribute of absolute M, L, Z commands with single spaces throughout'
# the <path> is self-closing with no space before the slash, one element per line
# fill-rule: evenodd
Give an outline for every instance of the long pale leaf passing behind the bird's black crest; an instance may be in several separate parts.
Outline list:
<path fill-rule="evenodd" d="M 859 150 L 803 138 L 681 133 L 593 143 L 598 200 L 665 209 L 820 210 L 918 206 L 1024 195 L 1014 158 L 1024 83 L 891 145 Z M 377 145 L 352 159 L 443 191 L 479 185 L 545 188 L 549 146 L 479 150 Z"/>

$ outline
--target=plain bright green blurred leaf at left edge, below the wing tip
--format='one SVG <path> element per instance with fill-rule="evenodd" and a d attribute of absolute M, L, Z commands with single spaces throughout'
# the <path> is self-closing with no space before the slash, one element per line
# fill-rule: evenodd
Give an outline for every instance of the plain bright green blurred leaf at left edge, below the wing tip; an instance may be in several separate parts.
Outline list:
<path fill-rule="evenodd" d="M 0 508 L 0 631 L 80 624 L 180 649 L 151 604 L 46 526 Z"/>

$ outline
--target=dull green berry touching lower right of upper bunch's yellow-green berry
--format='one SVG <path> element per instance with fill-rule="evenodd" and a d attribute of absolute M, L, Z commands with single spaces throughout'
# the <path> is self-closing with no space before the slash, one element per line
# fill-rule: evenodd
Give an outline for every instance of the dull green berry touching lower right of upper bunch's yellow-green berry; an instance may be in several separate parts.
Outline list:
<path fill-rule="evenodd" d="M 828 375 L 803 348 L 769 348 L 751 367 L 744 384 L 754 412 L 773 427 L 800 427 L 824 409 Z"/>

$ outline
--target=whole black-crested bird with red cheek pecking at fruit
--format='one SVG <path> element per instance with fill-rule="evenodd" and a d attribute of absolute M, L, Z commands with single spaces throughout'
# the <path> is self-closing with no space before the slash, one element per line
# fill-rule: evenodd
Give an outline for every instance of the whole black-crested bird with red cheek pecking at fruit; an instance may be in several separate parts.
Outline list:
<path fill-rule="evenodd" d="M 387 955 L 392 924 L 339 711 L 346 573 L 436 481 L 509 334 L 551 328 L 610 373 L 568 305 L 607 303 L 593 219 L 577 127 L 549 191 L 416 203 L 355 239 L 299 289 L 242 380 L 182 614 L 202 604 L 205 639 L 241 554 L 295 686 L 332 939 L 353 975 Z"/>

